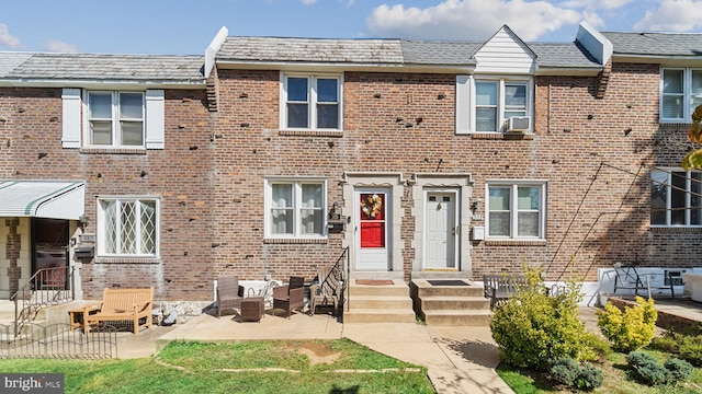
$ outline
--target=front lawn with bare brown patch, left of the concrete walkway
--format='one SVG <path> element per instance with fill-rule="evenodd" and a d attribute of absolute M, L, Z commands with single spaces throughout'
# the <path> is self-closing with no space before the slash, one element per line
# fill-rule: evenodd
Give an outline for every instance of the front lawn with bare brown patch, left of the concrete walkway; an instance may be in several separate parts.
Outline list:
<path fill-rule="evenodd" d="M 435 393 L 426 368 L 349 339 L 173 341 L 156 358 L 13 359 L 0 372 L 64 373 L 66 393 Z"/>

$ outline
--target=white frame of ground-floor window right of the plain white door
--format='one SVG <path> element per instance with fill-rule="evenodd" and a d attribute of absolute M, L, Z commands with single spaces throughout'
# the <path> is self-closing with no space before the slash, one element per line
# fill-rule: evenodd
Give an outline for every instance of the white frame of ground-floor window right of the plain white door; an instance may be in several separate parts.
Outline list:
<path fill-rule="evenodd" d="M 544 241 L 546 240 L 546 181 L 539 179 L 525 179 L 525 181 L 511 181 L 511 179 L 495 179 L 487 181 L 485 185 L 485 236 L 486 240 L 524 240 L 524 241 Z M 490 235 L 490 187 L 510 187 L 510 235 L 509 236 L 495 236 Z M 520 186 L 535 186 L 541 190 L 540 194 L 540 207 L 539 211 L 539 236 L 519 236 L 517 235 L 517 189 Z"/>

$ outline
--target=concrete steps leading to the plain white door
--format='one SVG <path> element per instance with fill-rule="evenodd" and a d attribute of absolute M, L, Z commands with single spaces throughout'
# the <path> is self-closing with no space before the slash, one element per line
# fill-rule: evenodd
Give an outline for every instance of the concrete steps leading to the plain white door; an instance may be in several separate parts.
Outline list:
<path fill-rule="evenodd" d="M 412 280 L 410 293 L 415 313 L 430 326 L 489 326 L 490 301 L 483 296 L 483 288 L 467 279 L 460 280 L 465 286 L 441 285 L 442 280 L 433 283 L 429 279 Z"/>

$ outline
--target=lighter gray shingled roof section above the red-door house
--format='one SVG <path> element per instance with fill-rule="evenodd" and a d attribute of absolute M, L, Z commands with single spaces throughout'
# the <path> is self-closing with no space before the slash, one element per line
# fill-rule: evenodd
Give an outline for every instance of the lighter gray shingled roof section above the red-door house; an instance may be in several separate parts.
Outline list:
<path fill-rule="evenodd" d="M 401 63 L 398 39 L 227 37 L 217 61 Z"/>

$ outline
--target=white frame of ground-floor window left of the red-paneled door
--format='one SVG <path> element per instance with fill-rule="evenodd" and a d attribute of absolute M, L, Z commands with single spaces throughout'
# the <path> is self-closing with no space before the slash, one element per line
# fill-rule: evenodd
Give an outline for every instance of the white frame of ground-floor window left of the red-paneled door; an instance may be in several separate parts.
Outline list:
<path fill-rule="evenodd" d="M 319 240 L 319 239 L 327 239 L 328 235 L 328 218 L 327 218 L 327 212 L 329 211 L 328 209 L 328 197 L 327 197 L 327 190 L 328 190 L 328 185 L 327 185 L 327 179 L 326 178 L 320 178 L 320 177 L 267 177 L 264 179 L 265 185 L 264 185 L 264 210 L 265 213 L 263 216 L 263 220 L 265 222 L 264 224 L 264 234 L 265 237 L 268 239 L 304 239 L 304 240 Z M 272 229 L 271 229 L 271 210 L 272 210 L 272 205 L 271 205 L 271 199 L 272 199 L 272 184 L 275 183 L 283 183 L 283 184 L 293 184 L 293 210 L 294 210 L 294 216 L 293 216 L 293 225 L 294 225 L 294 231 L 292 234 L 273 234 L 272 233 Z M 302 184 L 321 184 L 321 197 L 322 197 L 322 201 L 321 201 L 321 217 L 322 217 L 322 223 L 321 223 L 321 228 L 322 228 L 322 232 L 321 234 L 301 234 L 299 231 L 299 210 L 301 207 L 298 205 L 298 197 L 299 197 L 299 186 Z"/>

